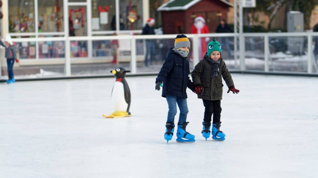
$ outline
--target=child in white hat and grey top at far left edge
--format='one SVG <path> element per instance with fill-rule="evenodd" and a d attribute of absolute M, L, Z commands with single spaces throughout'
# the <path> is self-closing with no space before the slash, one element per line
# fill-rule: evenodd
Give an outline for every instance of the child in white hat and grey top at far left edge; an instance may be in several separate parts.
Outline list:
<path fill-rule="evenodd" d="M 0 45 L 2 45 L 5 48 L 5 58 L 7 58 L 7 67 L 8 67 L 8 75 L 9 79 L 7 80 L 7 83 L 14 83 L 16 80 L 14 79 L 13 74 L 13 65 L 14 61 L 19 62 L 17 59 L 17 52 L 16 52 L 16 46 L 13 45 L 13 42 L 11 40 L 10 35 L 6 35 L 4 38 L 4 43 L 0 39 Z"/>

